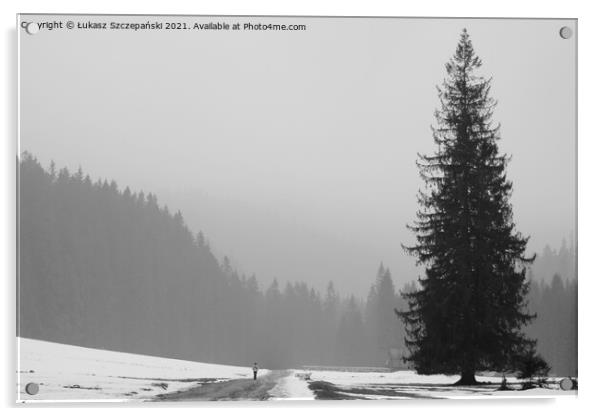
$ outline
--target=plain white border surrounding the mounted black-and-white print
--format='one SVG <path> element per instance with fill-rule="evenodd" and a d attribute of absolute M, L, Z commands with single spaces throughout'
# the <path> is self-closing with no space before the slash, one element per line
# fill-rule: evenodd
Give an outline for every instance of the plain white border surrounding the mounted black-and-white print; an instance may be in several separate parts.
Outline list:
<path fill-rule="evenodd" d="M 585 3 L 585 2 L 584 2 Z M 137 3 L 131 0 L 104 0 L 94 2 L 82 2 L 76 0 L 55 0 L 52 2 L 42 0 L 4 0 L 0 6 L 2 13 L 0 19 L 4 33 L 4 65 L 3 80 L 5 99 L 2 102 L 3 111 L 2 125 L 5 129 L 2 156 L 3 180 L 0 182 L 0 188 L 3 193 L 2 204 L 2 234 L 0 241 L 0 264 L 4 268 L 4 336 L 2 344 L 4 360 L 2 361 L 2 373 L 5 381 L 2 389 L 3 402 L 5 407 L 15 407 L 15 370 L 16 370 L 16 351 L 15 351 L 15 322 L 16 322 L 16 155 L 17 155 L 17 119 L 16 119 L 16 94 L 17 94 L 17 68 L 16 68 L 16 13 L 133 13 L 133 14 L 249 14 L 249 15 L 337 15 L 337 16 L 424 16 L 424 17 L 549 17 L 549 18 L 578 18 L 579 19 L 579 119 L 578 130 L 579 137 L 579 189 L 578 189 L 578 216 L 580 223 L 587 224 L 587 227 L 581 227 L 578 233 L 579 238 L 579 270 L 583 277 L 580 282 L 579 290 L 579 397 L 577 399 L 558 398 L 538 399 L 538 400 L 487 400 L 477 401 L 410 401 L 407 403 L 391 402 L 378 403 L 359 403 L 353 402 L 352 406 L 340 402 L 328 402 L 321 406 L 311 406 L 311 411 L 329 411 L 330 408 L 342 406 L 343 411 L 351 414 L 361 414 L 368 409 L 378 408 L 379 412 L 396 413 L 398 412 L 420 412 L 427 414 L 461 413 L 466 414 L 503 414 L 521 410 L 537 412 L 544 411 L 547 414 L 566 414 L 573 412 L 593 411 L 599 407 L 596 402 L 599 377 L 601 373 L 600 357 L 598 353 L 600 345 L 600 335 L 597 332 L 599 321 L 597 308 L 597 297 L 602 293 L 599 277 L 600 266 L 595 261 L 599 256 L 597 252 L 597 242 L 602 234 L 600 227 L 600 216 L 598 211 L 602 205 L 600 197 L 601 174 L 597 169 L 599 165 L 598 155 L 602 154 L 600 132 L 597 129 L 596 121 L 599 118 L 599 98 L 602 96 L 600 84 L 601 57 L 597 50 L 601 40 L 602 16 L 595 7 L 595 2 L 589 4 L 575 4 L 567 1 L 527 1 L 527 0 L 505 0 L 493 2 L 483 2 L 475 0 L 466 1 L 445 1 L 432 0 L 411 2 L 403 4 L 393 1 L 326 1 L 326 0 L 305 0 L 289 1 L 284 4 L 282 1 L 184 1 L 169 0 L 157 1 L 147 0 L 144 3 Z M 541 406 L 544 408 L 542 409 Z M 16 406 L 23 407 L 23 406 Z M 40 406 L 28 405 L 30 409 L 20 409 L 20 411 L 35 411 Z M 44 407 L 44 406 L 42 406 Z M 82 407 L 81 405 L 79 407 Z M 86 406 L 86 412 L 102 414 L 107 409 L 103 407 Z M 114 407 L 114 406 L 111 406 Z M 163 413 L 166 407 L 175 407 L 174 405 L 149 406 L 124 406 L 118 405 L 117 411 L 132 412 L 141 411 L 145 414 Z M 132 407 L 138 407 L 133 409 Z M 189 405 L 184 408 L 178 406 L 182 411 L 194 411 Z M 205 406 L 207 407 L 207 406 Z M 236 403 L 222 404 L 218 407 L 208 406 L 211 412 L 224 412 L 231 408 L 236 408 L 239 412 L 250 412 L 252 414 L 265 414 L 265 412 L 276 414 L 282 412 L 281 405 L 270 403 L 270 407 L 255 405 L 246 402 L 244 405 Z M 246 409 L 243 409 L 246 408 Z M 307 405 L 295 405 L 290 407 L 288 403 L 286 412 L 293 414 L 306 413 L 309 409 Z M 60 408 L 53 406 L 43 410 L 45 413 L 63 414 L 63 412 L 81 412 L 76 406 L 69 408 Z M 593 413 L 593 412 L 592 412 Z"/>

